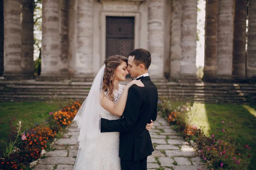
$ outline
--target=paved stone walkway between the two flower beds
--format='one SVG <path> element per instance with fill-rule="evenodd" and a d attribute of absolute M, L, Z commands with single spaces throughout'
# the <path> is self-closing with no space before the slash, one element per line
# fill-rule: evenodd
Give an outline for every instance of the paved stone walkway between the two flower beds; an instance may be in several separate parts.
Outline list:
<path fill-rule="evenodd" d="M 158 116 L 150 130 L 155 151 L 148 156 L 148 170 L 205 169 L 194 149 L 171 129 L 166 120 Z M 73 170 L 78 151 L 79 129 L 76 124 L 68 128 L 64 139 L 58 139 L 46 158 L 38 161 L 34 170 Z"/>

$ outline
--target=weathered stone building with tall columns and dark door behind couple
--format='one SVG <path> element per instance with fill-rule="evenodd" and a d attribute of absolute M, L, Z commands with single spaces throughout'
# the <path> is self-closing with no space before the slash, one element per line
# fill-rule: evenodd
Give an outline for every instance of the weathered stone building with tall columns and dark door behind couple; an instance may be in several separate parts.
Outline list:
<path fill-rule="evenodd" d="M 256 1 L 249 2 L 248 35 L 246 0 L 206 1 L 204 79 L 256 76 Z M 32 79 L 33 0 L 0 3 L 0 73 Z M 134 48 L 151 52 L 153 79 L 196 79 L 197 0 L 42 0 L 42 5 L 39 80 L 89 81 L 106 57 L 127 56 Z"/>

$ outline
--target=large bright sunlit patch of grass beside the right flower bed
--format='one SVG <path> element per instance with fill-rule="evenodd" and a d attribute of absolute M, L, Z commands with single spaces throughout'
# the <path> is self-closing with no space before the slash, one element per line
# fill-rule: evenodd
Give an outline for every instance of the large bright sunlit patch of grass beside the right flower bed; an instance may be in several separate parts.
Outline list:
<path fill-rule="evenodd" d="M 186 122 L 190 125 L 195 125 L 196 127 L 201 127 L 205 135 L 209 136 L 209 131 L 211 130 L 207 111 L 204 103 L 194 103 L 193 109 L 188 111 L 186 114 Z"/>

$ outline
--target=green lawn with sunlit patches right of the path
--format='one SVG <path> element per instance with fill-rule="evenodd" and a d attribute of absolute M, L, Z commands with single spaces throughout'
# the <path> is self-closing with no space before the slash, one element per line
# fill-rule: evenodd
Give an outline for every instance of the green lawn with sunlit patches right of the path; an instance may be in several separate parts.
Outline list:
<path fill-rule="evenodd" d="M 172 102 L 172 108 L 176 109 L 183 102 Z M 236 125 L 236 133 L 233 137 L 241 144 L 251 147 L 253 160 L 250 164 L 252 170 L 256 169 L 256 106 L 235 104 L 203 104 L 191 103 L 192 110 L 187 112 L 186 122 L 196 127 L 202 127 L 207 136 L 214 134 L 216 139 L 224 133 L 222 129 L 225 123 Z M 221 123 L 224 121 L 224 124 Z"/>

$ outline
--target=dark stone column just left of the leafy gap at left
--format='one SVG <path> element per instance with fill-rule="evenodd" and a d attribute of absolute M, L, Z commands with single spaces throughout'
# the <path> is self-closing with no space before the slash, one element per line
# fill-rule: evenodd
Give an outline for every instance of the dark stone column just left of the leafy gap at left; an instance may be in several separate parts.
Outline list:
<path fill-rule="evenodd" d="M 24 79 L 34 78 L 34 0 L 22 0 L 21 68 Z"/>

